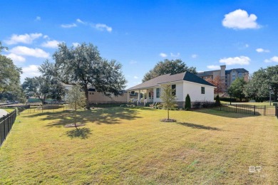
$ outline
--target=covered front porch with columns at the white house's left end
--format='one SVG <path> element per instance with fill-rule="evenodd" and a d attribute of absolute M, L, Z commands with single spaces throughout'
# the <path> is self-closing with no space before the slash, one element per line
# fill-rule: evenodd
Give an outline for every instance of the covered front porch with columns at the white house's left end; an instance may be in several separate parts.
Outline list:
<path fill-rule="evenodd" d="M 153 95 L 153 88 L 129 89 L 128 102 L 136 102 L 137 105 L 145 105 L 147 102 L 153 102 Z"/>

